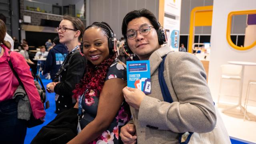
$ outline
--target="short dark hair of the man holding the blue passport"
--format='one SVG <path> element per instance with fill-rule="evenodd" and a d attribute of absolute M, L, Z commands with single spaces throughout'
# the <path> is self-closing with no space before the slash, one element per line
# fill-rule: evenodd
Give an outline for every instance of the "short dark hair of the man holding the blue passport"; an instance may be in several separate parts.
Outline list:
<path fill-rule="evenodd" d="M 159 29 L 159 25 L 158 25 L 158 21 L 156 19 L 156 16 L 152 12 L 150 12 L 147 9 L 134 10 L 134 11 L 131 11 L 128 14 L 126 14 L 126 16 L 123 19 L 122 34 L 123 34 L 125 39 L 127 39 L 126 31 L 127 31 L 128 23 L 130 21 L 132 21 L 134 18 L 140 18 L 140 17 L 147 18 L 156 30 Z"/>

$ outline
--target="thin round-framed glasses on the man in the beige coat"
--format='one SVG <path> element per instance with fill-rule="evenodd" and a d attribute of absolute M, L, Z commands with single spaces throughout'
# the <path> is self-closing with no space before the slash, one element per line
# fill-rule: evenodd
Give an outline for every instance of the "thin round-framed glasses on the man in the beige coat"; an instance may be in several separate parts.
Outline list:
<path fill-rule="evenodd" d="M 142 36 L 146 36 L 150 33 L 150 28 L 154 28 L 154 27 L 153 26 L 142 26 L 138 30 L 140 30 L 140 34 Z M 128 30 L 128 32 L 126 32 L 126 36 L 129 40 L 133 40 L 137 36 L 137 30 Z"/>

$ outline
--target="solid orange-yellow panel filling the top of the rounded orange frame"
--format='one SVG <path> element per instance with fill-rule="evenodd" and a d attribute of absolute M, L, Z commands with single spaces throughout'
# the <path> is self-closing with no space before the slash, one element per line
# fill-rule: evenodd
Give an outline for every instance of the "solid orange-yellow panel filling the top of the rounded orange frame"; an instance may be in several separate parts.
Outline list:
<path fill-rule="evenodd" d="M 194 26 L 212 26 L 212 10 L 196 12 Z"/>

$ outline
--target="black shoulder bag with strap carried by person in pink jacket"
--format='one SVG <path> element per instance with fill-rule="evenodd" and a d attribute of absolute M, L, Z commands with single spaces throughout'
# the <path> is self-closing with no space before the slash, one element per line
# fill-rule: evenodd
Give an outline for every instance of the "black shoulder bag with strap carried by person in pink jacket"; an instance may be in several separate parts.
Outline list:
<path fill-rule="evenodd" d="M 9 55 L 10 55 L 10 52 L 11 52 L 11 51 L 8 52 Z M 17 80 L 18 80 L 20 86 L 22 86 L 22 88 L 25 90 L 23 83 L 21 82 L 21 80 L 20 80 L 20 78 L 19 78 L 17 72 L 16 72 L 16 71 L 14 70 L 14 68 L 13 68 L 13 65 L 12 65 L 11 60 L 8 60 L 8 64 L 10 65 L 10 68 L 12 69 L 12 72 L 13 72 L 14 75 L 16 76 L 16 78 L 17 78 Z M 46 92 L 45 92 L 45 89 L 44 89 L 44 85 L 43 85 L 43 83 L 42 83 L 42 80 L 40 79 L 40 77 L 39 77 L 38 75 L 37 75 L 36 77 L 37 77 L 37 80 L 38 80 L 38 79 L 40 80 L 40 83 L 41 83 L 41 86 L 42 86 L 41 89 L 42 89 L 43 91 L 42 91 L 42 93 L 40 94 L 40 99 L 41 99 L 41 102 L 42 102 L 43 105 L 44 105 L 44 102 L 45 102 L 46 97 L 47 97 L 47 96 L 46 96 Z M 26 90 L 25 90 L 25 91 L 26 91 Z M 47 108 L 49 108 L 49 101 L 48 101 L 48 105 L 46 104 L 46 106 L 47 106 Z M 45 107 L 45 108 L 46 108 L 46 107 Z M 27 126 L 28 128 L 32 128 L 32 127 L 38 126 L 38 125 L 40 125 L 40 124 L 42 124 L 42 123 L 43 123 L 43 121 L 40 120 L 40 119 L 36 119 L 36 118 L 34 117 L 33 113 L 32 113 L 31 116 L 30 116 L 30 120 L 26 121 L 26 126 Z"/>

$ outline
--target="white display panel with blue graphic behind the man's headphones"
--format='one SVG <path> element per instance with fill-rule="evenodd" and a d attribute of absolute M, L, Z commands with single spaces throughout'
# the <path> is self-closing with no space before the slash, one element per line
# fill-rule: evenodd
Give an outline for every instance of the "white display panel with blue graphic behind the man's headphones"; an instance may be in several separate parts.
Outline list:
<path fill-rule="evenodd" d="M 164 28 L 168 37 L 168 46 L 179 51 L 181 0 L 164 1 Z"/>

